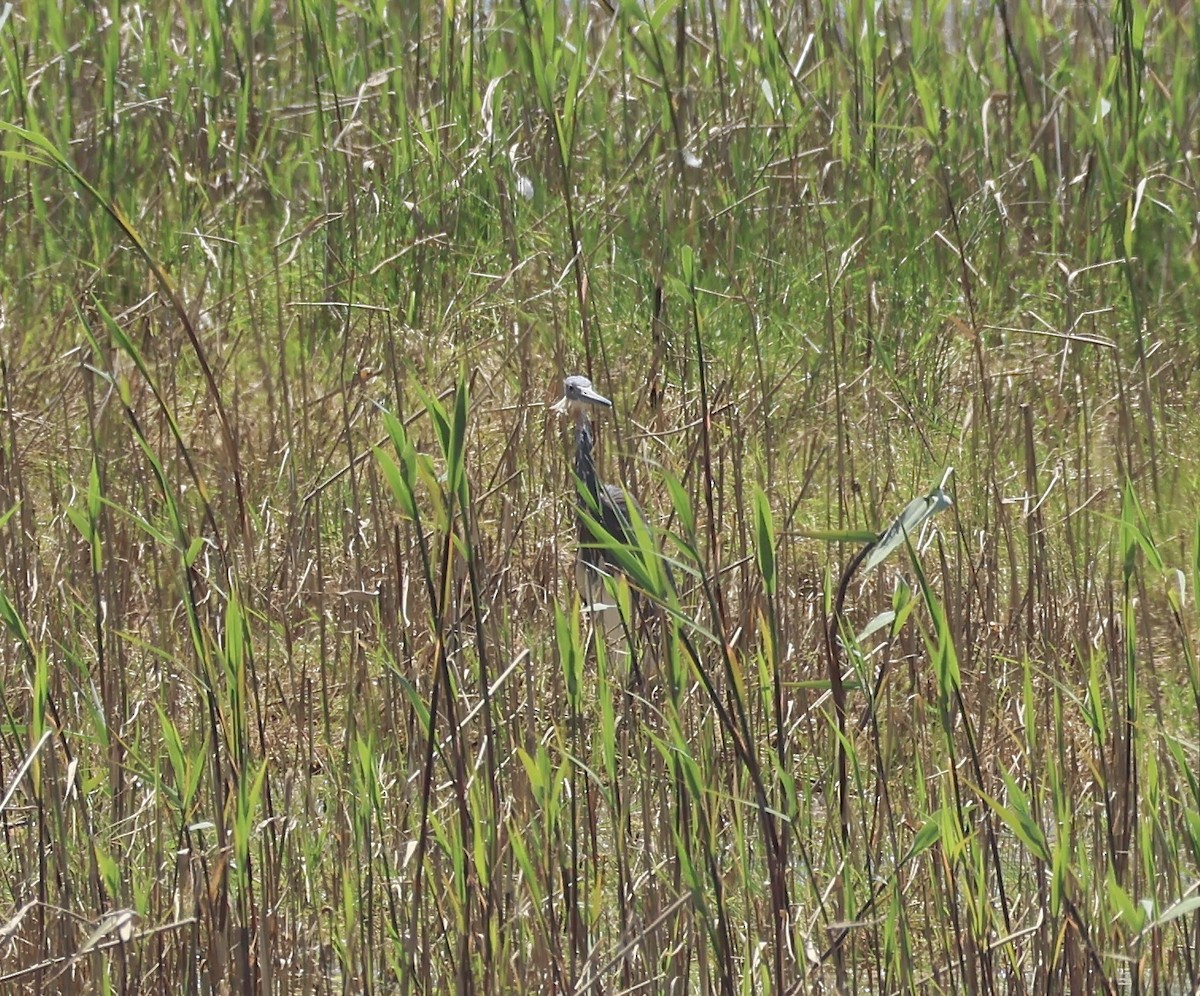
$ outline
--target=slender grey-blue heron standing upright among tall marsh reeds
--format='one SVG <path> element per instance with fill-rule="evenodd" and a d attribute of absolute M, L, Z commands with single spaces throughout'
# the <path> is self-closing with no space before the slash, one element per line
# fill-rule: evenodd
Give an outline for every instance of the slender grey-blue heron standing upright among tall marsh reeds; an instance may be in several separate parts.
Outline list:
<path fill-rule="evenodd" d="M 612 572 L 616 564 L 605 554 L 592 522 L 599 522 L 605 532 L 623 544 L 636 542 L 632 515 L 641 509 L 631 503 L 624 488 L 604 484 L 596 473 L 595 431 L 592 415 L 612 409 L 612 402 L 600 394 L 582 374 L 571 374 L 563 380 L 563 397 L 552 406 L 556 412 L 575 421 L 575 478 L 576 522 L 580 538 L 581 582 L 589 595 L 604 590 L 604 576 Z"/>

